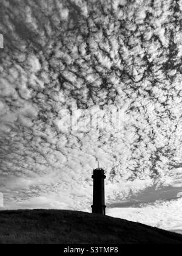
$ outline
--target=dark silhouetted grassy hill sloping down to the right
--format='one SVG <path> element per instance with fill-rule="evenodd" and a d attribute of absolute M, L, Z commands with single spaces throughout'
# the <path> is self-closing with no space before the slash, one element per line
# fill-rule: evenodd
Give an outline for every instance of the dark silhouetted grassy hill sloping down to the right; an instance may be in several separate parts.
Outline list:
<path fill-rule="evenodd" d="M 90 213 L 18 210 L 0 212 L 0 243 L 182 244 L 182 236 Z"/>

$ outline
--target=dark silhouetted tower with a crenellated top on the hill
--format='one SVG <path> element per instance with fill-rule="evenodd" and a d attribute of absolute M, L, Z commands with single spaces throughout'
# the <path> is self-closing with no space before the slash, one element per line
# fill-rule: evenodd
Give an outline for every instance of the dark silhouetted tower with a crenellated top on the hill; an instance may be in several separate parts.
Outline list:
<path fill-rule="evenodd" d="M 92 213 L 99 213 L 106 215 L 106 205 L 105 205 L 105 188 L 104 188 L 104 169 L 94 169 L 93 170 L 93 205 Z"/>

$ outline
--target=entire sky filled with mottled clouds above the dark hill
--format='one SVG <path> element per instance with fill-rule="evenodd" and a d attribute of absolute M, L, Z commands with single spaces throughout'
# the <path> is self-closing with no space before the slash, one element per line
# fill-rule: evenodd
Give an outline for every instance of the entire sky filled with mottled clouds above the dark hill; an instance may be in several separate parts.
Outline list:
<path fill-rule="evenodd" d="M 182 229 L 182 1 L 0 0 L 4 208 Z M 1 205 L 0 205 L 1 206 Z"/>

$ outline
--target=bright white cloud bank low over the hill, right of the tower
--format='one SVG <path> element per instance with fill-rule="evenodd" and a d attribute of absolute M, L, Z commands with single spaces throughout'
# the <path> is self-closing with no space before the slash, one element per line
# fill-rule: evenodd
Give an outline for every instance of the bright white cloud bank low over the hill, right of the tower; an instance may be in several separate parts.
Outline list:
<path fill-rule="evenodd" d="M 181 204 L 182 199 L 157 201 L 136 208 L 110 208 L 107 209 L 107 215 L 182 233 Z"/>

